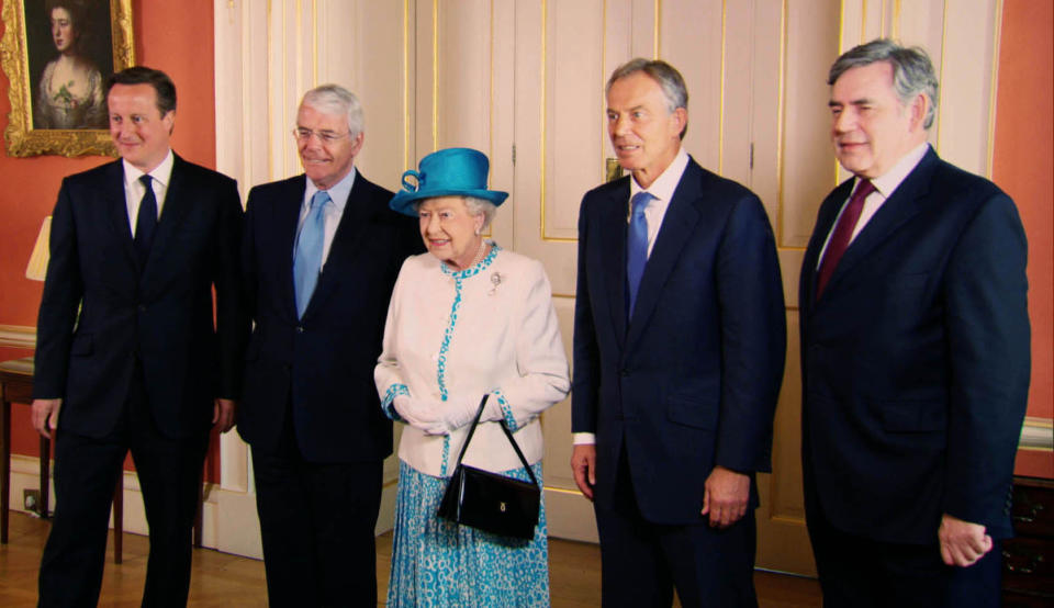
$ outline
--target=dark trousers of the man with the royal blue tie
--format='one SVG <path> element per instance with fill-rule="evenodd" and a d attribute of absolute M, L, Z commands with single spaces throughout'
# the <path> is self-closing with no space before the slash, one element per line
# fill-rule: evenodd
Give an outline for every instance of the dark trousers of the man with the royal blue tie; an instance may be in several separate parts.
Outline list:
<path fill-rule="evenodd" d="M 594 504 L 605 608 L 666 608 L 674 587 L 685 608 L 758 606 L 753 509 L 725 530 L 703 517 L 689 526 L 652 523 L 640 515 L 625 461 L 617 484 L 613 508 Z"/>

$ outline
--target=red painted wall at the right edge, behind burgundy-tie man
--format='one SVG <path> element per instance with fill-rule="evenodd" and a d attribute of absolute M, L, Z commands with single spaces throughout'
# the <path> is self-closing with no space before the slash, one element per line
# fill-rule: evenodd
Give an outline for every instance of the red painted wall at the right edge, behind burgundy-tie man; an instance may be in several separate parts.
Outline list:
<path fill-rule="evenodd" d="M 1054 3 L 1006 0 L 993 181 L 1029 237 L 1029 416 L 1054 418 Z M 1054 432 L 1054 431 L 1052 431 Z M 1054 477 L 1054 452 L 1019 451 L 1017 473 Z"/>

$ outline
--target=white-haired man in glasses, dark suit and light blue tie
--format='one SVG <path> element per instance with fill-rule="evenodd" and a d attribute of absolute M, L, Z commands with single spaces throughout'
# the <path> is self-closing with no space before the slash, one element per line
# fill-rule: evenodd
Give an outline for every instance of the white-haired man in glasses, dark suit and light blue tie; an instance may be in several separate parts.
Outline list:
<path fill-rule="evenodd" d="M 373 528 L 392 424 L 373 368 L 417 224 L 355 166 L 359 100 L 307 91 L 305 174 L 249 192 L 243 264 L 256 328 L 238 432 L 253 447 L 271 606 L 373 606 Z"/>

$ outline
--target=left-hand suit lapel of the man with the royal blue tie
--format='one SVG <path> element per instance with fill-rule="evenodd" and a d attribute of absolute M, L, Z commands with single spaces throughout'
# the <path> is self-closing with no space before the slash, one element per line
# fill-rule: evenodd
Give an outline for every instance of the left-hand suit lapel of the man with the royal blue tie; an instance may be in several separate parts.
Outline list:
<path fill-rule="evenodd" d="M 626 341 L 626 205 L 629 202 L 629 179 L 615 189 L 607 201 L 601 201 L 601 259 L 605 268 L 605 294 L 612 314 L 612 327 L 618 345 Z"/>

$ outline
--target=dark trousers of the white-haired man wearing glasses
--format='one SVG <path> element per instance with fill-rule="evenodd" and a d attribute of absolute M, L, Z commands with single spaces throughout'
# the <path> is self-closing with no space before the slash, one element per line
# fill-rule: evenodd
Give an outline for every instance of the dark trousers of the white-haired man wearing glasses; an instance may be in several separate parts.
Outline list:
<path fill-rule="evenodd" d="M 290 419 L 273 453 L 253 448 L 270 606 L 375 606 L 383 462 L 306 462 Z"/>

